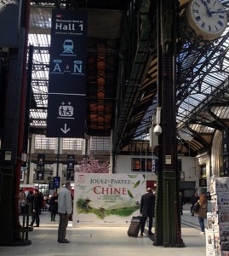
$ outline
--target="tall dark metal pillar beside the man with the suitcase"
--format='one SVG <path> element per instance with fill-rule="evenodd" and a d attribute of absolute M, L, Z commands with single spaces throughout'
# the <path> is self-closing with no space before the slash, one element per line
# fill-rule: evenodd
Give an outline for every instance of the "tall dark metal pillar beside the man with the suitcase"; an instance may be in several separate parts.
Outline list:
<path fill-rule="evenodd" d="M 158 106 L 162 107 L 162 136 L 158 148 L 159 170 L 154 245 L 184 247 L 180 235 L 180 175 L 176 146 L 176 33 L 178 1 L 157 1 Z M 163 215 L 163 219 L 161 216 Z M 163 230 L 162 228 L 163 227 Z"/>

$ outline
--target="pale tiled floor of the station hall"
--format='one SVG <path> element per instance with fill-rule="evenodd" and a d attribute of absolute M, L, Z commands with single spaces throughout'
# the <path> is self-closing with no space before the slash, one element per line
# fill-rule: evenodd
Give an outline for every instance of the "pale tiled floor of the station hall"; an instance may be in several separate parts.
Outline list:
<path fill-rule="evenodd" d="M 41 215 L 41 225 L 29 234 L 31 245 L 22 247 L 0 247 L 4 256 L 203 256 L 205 236 L 201 236 L 197 217 L 192 217 L 190 205 L 186 205 L 181 216 L 182 239 L 186 247 L 161 247 L 152 245 L 148 236 L 129 237 L 128 227 L 67 228 L 68 244 L 57 239 L 58 221 L 50 222 L 49 212 Z"/>

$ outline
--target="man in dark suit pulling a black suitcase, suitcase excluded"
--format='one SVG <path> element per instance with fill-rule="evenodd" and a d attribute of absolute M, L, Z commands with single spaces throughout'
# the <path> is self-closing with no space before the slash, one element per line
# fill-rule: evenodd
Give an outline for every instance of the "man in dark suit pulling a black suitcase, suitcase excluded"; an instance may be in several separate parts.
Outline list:
<path fill-rule="evenodd" d="M 141 225 L 140 225 L 140 236 L 143 236 L 144 229 L 146 226 L 146 219 L 149 218 L 149 230 L 148 235 L 152 236 L 152 221 L 154 217 L 154 207 L 155 207 L 155 195 L 152 193 L 152 189 L 148 188 L 145 195 L 141 195 L 140 199 L 140 214 Z"/>

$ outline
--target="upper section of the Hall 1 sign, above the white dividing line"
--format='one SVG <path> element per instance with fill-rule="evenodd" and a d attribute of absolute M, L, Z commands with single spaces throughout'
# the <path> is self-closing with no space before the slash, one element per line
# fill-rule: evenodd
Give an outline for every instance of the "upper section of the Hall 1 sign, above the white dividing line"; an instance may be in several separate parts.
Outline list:
<path fill-rule="evenodd" d="M 87 23 L 87 10 L 53 10 L 49 93 L 85 95 Z"/>

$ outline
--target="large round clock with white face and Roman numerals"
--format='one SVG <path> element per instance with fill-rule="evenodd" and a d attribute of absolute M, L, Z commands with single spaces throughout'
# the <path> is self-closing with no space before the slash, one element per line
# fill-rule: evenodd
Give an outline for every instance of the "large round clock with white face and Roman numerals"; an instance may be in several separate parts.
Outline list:
<path fill-rule="evenodd" d="M 204 39 L 215 39 L 226 29 L 226 11 L 218 0 L 191 0 L 187 18 Z"/>

